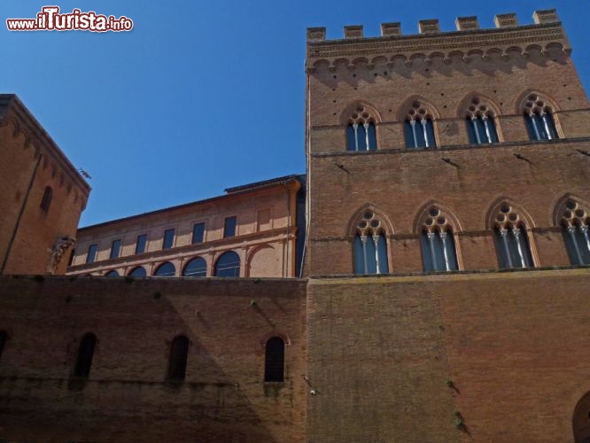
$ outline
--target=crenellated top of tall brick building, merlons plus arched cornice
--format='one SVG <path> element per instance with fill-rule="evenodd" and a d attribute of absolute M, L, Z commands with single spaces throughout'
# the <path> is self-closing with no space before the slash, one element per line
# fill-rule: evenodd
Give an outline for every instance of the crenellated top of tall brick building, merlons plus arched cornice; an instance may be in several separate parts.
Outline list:
<path fill-rule="evenodd" d="M 344 38 L 334 40 L 326 40 L 325 27 L 308 27 L 307 70 L 313 72 L 326 63 L 334 68 L 337 61 L 353 66 L 363 60 L 371 66 L 377 58 L 387 63 L 395 58 L 408 63 L 416 57 L 426 62 L 443 58 L 448 63 L 457 54 L 469 61 L 473 54 L 487 58 L 496 52 L 506 57 L 508 51 L 519 51 L 526 57 L 532 48 L 542 55 L 549 49 L 571 53 L 555 9 L 535 11 L 532 19 L 534 24 L 519 26 L 516 14 L 498 14 L 493 20 L 495 27 L 482 29 L 477 17 L 459 17 L 455 20 L 457 30 L 451 32 L 441 32 L 438 19 L 424 19 L 418 22 L 418 34 L 414 35 L 403 35 L 399 22 L 383 23 L 377 37 L 363 36 L 362 26 L 355 25 L 346 26 Z"/>

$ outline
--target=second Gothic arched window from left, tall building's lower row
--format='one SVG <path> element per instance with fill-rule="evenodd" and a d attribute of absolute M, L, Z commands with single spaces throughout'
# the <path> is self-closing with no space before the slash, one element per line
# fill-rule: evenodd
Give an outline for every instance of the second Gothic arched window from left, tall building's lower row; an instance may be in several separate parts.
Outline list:
<path fill-rule="evenodd" d="M 438 207 L 432 206 L 429 210 L 420 239 L 425 271 L 454 271 L 459 268 L 453 228 Z"/>

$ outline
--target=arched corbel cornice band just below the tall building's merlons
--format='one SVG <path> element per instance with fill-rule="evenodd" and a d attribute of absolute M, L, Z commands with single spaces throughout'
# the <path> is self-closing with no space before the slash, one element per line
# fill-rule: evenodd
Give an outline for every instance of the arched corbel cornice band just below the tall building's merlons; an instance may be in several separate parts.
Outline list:
<path fill-rule="evenodd" d="M 560 22 L 421 35 L 308 41 L 307 70 L 313 71 L 318 62 L 334 66 L 339 59 L 353 65 L 359 58 L 372 64 L 376 58 L 385 58 L 391 63 L 394 58 L 410 60 L 416 56 L 426 60 L 433 57 L 448 59 L 454 53 L 468 57 L 475 52 L 485 57 L 491 52 L 504 55 L 511 48 L 524 54 L 531 47 L 545 51 L 552 45 L 568 53 L 571 51 Z"/>

